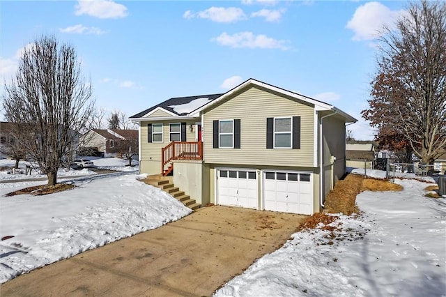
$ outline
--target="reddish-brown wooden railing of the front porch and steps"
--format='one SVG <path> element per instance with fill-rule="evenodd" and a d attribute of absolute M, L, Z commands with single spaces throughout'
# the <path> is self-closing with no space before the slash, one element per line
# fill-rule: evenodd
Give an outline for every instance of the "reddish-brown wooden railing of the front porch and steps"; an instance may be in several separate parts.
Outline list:
<path fill-rule="evenodd" d="M 203 142 L 171 142 L 161 148 L 161 173 L 172 160 L 203 160 Z"/>

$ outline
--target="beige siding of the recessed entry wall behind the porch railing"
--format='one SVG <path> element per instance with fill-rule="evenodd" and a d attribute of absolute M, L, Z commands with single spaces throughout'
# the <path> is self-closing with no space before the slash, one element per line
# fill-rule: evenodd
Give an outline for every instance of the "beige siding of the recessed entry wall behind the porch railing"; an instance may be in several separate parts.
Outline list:
<path fill-rule="evenodd" d="M 184 121 L 183 121 L 184 122 Z M 197 121 L 196 120 L 192 120 L 192 121 L 185 121 L 186 123 L 186 141 L 187 142 L 194 142 L 195 141 L 195 130 L 197 129 L 195 123 Z M 147 137 L 147 124 L 148 123 L 162 123 L 162 137 L 163 137 L 163 142 L 151 142 L 148 143 L 148 137 Z M 141 161 L 157 161 L 157 162 L 161 162 L 161 148 L 164 148 L 165 146 L 167 146 L 170 141 L 169 141 L 169 123 L 182 123 L 182 121 L 156 121 L 156 122 L 151 122 L 151 121 L 141 121 L 141 127 L 140 127 L 140 131 L 141 131 Z M 193 132 L 190 132 L 190 124 L 194 125 L 194 130 Z M 152 163 L 151 163 L 152 164 Z M 159 165 L 158 167 L 161 168 L 161 165 Z M 141 173 L 149 173 L 149 172 L 144 172 L 141 169 Z"/>

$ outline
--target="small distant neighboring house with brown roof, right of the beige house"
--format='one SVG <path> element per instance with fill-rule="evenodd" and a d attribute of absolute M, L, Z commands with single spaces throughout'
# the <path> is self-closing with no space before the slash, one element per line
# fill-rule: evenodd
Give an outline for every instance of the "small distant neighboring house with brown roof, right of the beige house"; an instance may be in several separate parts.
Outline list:
<path fill-rule="evenodd" d="M 373 169 L 374 155 L 374 142 L 346 144 L 346 166 L 349 169 Z"/>

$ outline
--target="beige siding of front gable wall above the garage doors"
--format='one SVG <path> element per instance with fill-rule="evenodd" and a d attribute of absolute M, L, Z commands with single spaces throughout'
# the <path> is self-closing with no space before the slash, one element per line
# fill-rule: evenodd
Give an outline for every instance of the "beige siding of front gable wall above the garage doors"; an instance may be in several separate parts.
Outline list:
<path fill-rule="evenodd" d="M 300 149 L 266 148 L 266 118 L 300 116 Z M 240 119 L 240 148 L 213 148 L 213 120 Z M 204 114 L 204 161 L 313 167 L 314 107 L 251 87 Z"/>

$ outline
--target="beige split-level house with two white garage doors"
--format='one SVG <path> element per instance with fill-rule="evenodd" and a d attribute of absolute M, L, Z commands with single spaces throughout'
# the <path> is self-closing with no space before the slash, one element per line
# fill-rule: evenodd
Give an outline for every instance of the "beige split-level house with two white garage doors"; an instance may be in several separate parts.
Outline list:
<path fill-rule="evenodd" d="M 336 107 L 255 79 L 223 94 L 171 98 L 131 116 L 139 170 L 169 174 L 208 203 L 311 215 L 346 172 Z M 172 173 L 170 173 L 172 174 Z"/>

